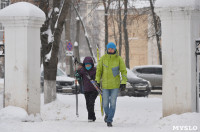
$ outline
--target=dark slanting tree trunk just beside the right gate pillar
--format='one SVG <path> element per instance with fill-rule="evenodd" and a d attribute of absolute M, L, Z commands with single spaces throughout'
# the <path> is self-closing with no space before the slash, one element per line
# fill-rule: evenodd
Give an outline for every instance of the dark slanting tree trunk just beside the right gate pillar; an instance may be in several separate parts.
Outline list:
<path fill-rule="evenodd" d="M 161 49 L 161 44 L 160 44 L 160 36 L 161 36 L 161 22 L 159 17 L 156 15 L 154 12 L 154 4 L 152 0 L 149 0 L 150 6 L 151 6 L 151 12 L 153 16 L 153 23 L 154 23 L 154 28 L 155 28 L 155 36 L 156 36 L 156 42 L 157 42 L 157 47 L 158 47 L 158 54 L 159 54 L 159 62 L 160 65 L 162 65 L 162 49 Z"/>

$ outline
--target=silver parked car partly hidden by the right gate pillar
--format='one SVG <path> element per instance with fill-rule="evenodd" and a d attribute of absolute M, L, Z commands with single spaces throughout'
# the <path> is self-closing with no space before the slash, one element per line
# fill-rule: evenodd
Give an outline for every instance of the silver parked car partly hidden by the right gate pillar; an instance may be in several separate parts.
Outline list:
<path fill-rule="evenodd" d="M 152 89 L 162 89 L 161 65 L 135 66 L 132 71 L 137 75 L 137 77 L 149 81 L 151 83 Z"/>

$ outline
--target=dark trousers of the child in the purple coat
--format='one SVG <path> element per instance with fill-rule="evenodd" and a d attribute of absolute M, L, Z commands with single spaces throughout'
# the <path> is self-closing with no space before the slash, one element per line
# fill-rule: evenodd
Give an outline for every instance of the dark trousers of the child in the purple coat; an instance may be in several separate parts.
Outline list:
<path fill-rule="evenodd" d="M 88 119 L 89 120 L 96 120 L 95 112 L 94 112 L 94 104 L 95 100 L 97 98 L 98 92 L 97 91 L 91 91 L 91 92 L 85 92 L 85 100 L 86 100 L 86 107 L 88 111 Z"/>

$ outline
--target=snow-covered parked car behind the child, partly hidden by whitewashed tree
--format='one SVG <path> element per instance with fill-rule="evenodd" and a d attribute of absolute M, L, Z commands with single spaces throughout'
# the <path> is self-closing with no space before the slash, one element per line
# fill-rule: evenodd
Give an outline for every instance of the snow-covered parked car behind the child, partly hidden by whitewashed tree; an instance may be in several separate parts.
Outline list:
<path fill-rule="evenodd" d="M 41 87 L 44 87 L 44 71 L 41 72 Z M 75 79 L 68 77 L 61 69 L 57 69 L 56 91 L 61 93 L 75 93 Z"/>

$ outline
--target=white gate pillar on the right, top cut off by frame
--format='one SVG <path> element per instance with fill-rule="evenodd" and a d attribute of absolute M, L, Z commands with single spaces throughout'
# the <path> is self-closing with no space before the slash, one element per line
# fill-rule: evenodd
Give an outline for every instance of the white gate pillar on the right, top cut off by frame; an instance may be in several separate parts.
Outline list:
<path fill-rule="evenodd" d="M 163 116 L 198 111 L 195 39 L 199 0 L 157 0 L 162 25 Z"/>

